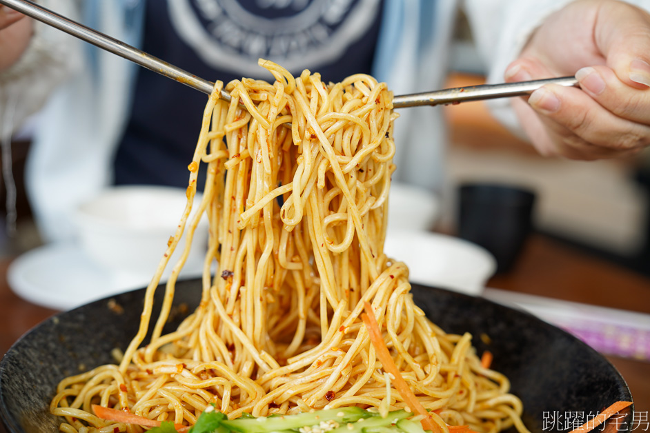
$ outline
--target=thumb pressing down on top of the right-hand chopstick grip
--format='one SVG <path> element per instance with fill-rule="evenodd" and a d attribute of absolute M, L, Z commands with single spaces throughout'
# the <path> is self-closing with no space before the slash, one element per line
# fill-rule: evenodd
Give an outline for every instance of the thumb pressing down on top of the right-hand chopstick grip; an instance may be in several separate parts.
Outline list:
<path fill-rule="evenodd" d="M 627 3 L 601 6 L 594 27 L 596 46 L 620 81 L 650 87 L 650 14 Z"/>

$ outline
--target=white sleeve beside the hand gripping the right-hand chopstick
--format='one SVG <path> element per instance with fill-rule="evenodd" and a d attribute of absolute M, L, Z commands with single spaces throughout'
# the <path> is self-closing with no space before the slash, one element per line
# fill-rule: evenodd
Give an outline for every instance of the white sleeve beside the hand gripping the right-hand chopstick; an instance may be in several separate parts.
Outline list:
<path fill-rule="evenodd" d="M 487 81 L 502 83 L 507 66 L 546 17 L 572 0 L 464 0 L 473 39 L 488 67 Z M 650 0 L 627 3 L 650 10 Z M 492 113 L 515 133 L 522 134 L 509 99 L 488 103 Z"/>

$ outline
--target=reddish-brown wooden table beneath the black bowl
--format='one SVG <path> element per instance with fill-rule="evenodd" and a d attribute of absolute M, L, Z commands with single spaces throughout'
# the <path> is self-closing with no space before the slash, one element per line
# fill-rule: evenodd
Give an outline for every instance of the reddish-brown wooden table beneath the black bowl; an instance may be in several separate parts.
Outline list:
<path fill-rule="evenodd" d="M 10 290 L 6 281 L 9 263 L 9 259 L 0 260 L 0 353 L 5 353 L 32 326 L 55 314 L 55 310 L 23 301 Z M 493 277 L 489 286 L 650 313 L 650 279 L 541 235 L 533 235 L 515 268 Z M 629 384 L 636 410 L 647 414 L 650 363 L 613 357 L 609 360 Z M 0 433 L 4 431 L 0 425 Z"/>

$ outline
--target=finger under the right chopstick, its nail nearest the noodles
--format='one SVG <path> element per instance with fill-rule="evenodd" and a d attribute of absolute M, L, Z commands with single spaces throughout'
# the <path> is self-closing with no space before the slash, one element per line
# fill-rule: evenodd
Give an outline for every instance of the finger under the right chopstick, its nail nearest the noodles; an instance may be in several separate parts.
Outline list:
<path fill-rule="evenodd" d="M 545 85 L 529 97 L 529 105 L 551 119 L 549 128 L 566 129 L 603 148 L 630 150 L 650 144 L 650 127 L 609 112 L 577 88 Z"/>

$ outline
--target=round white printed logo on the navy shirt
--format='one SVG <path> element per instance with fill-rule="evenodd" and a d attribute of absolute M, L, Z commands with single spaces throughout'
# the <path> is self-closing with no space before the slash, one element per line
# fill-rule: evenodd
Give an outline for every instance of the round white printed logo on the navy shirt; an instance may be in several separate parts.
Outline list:
<path fill-rule="evenodd" d="M 297 74 L 335 61 L 372 26 L 380 0 L 169 0 L 179 37 L 213 68 L 259 75 L 257 59 Z M 281 17 L 268 18 L 284 9 Z M 257 13 L 256 13 L 257 12 Z"/>

